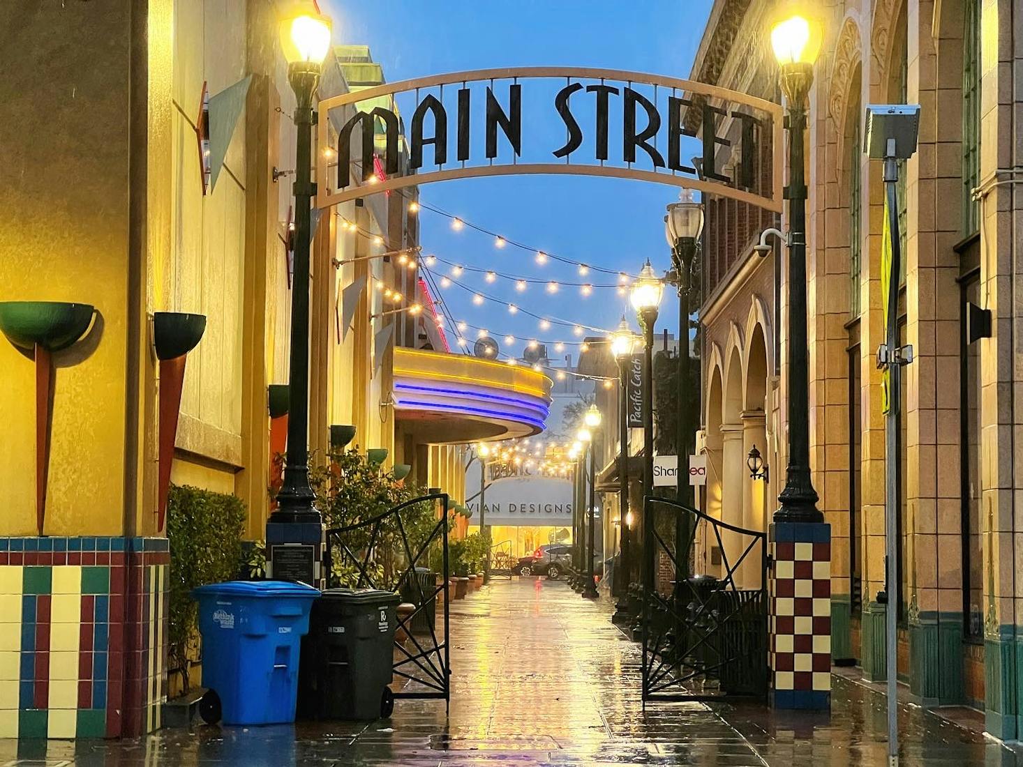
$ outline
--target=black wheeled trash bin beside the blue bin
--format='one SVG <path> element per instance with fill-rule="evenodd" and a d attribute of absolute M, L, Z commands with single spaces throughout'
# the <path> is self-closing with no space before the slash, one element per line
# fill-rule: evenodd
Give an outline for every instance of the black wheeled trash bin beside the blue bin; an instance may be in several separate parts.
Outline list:
<path fill-rule="evenodd" d="M 302 640 L 299 715 L 368 721 L 394 709 L 395 607 L 398 596 L 376 589 L 327 589 L 313 602 Z"/>

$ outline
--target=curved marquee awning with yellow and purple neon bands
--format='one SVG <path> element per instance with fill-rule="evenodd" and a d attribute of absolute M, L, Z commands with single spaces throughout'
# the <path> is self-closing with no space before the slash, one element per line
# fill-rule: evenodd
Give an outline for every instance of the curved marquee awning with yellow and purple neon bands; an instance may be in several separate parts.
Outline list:
<path fill-rule="evenodd" d="M 530 437 L 546 427 L 551 381 L 531 368 L 395 349 L 395 418 L 424 443 Z"/>

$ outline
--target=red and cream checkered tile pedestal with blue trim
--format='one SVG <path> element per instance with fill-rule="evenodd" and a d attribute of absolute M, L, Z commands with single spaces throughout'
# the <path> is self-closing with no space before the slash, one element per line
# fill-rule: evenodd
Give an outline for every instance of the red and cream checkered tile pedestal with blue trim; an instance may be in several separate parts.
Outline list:
<path fill-rule="evenodd" d="M 771 705 L 829 709 L 831 525 L 774 523 L 767 541 Z"/>

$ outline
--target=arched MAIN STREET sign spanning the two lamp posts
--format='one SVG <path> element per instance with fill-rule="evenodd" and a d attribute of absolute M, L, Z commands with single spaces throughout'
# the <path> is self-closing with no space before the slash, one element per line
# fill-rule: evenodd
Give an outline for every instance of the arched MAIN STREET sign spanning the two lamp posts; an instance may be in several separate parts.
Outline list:
<path fill-rule="evenodd" d="M 399 109 L 400 105 L 400 109 Z M 782 107 L 576 66 L 435 75 L 319 102 L 317 205 L 458 178 L 606 176 L 782 211 Z"/>

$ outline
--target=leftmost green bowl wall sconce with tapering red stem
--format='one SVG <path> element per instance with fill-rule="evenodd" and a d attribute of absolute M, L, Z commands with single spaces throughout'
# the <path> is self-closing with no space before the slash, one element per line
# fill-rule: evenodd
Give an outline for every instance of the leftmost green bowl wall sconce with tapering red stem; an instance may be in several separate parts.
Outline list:
<path fill-rule="evenodd" d="M 77 343 L 95 315 L 90 304 L 51 301 L 0 302 L 0 331 L 36 362 L 36 528 L 43 534 L 50 465 L 54 352 Z"/>

